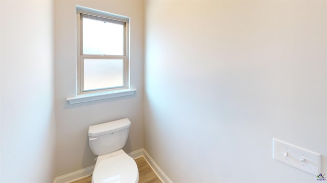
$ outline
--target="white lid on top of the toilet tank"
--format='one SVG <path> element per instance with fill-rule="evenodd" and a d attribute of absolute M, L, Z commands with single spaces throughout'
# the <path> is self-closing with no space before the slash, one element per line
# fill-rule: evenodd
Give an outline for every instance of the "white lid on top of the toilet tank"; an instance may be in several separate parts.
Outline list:
<path fill-rule="evenodd" d="M 94 137 L 108 133 L 117 132 L 127 129 L 131 126 L 131 121 L 128 118 L 110 121 L 107 123 L 93 125 L 88 127 L 88 136 Z"/>

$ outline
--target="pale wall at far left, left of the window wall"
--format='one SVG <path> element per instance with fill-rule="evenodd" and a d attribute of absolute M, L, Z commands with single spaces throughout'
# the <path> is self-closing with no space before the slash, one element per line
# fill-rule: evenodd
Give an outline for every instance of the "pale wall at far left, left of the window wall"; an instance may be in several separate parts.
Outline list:
<path fill-rule="evenodd" d="M 53 1 L 0 1 L 0 182 L 54 178 Z"/>

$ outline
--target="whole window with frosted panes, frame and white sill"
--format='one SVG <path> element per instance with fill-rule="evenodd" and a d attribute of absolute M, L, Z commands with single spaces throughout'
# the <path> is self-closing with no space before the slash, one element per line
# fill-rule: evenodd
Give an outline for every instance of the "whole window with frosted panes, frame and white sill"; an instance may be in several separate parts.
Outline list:
<path fill-rule="evenodd" d="M 81 6 L 76 10 L 77 96 L 67 101 L 74 104 L 133 95 L 136 89 L 130 89 L 129 83 L 129 18 Z M 101 97 L 94 97 L 97 95 Z M 89 97 L 95 99 L 85 99 Z"/>

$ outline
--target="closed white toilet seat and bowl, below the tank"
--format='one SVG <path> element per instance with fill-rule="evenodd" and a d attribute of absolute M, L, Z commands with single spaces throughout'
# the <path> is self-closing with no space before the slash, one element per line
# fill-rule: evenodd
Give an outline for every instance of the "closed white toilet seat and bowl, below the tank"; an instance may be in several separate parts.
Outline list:
<path fill-rule="evenodd" d="M 137 183 L 137 165 L 122 149 L 101 155 L 93 171 L 92 182 Z"/>

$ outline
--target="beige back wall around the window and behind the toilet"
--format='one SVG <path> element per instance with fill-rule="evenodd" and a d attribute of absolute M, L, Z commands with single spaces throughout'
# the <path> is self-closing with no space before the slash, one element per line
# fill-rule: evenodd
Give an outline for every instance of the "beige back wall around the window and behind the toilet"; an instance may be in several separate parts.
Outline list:
<path fill-rule="evenodd" d="M 76 85 L 76 5 L 130 17 L 131 97 L 69 105 Z M 143 1 L 55 1 L 56 176 L 94 165 L 87 138 L 88 127 L 128 117 L 130 153 L 143 142 Z"/>

